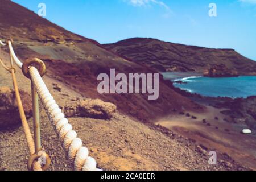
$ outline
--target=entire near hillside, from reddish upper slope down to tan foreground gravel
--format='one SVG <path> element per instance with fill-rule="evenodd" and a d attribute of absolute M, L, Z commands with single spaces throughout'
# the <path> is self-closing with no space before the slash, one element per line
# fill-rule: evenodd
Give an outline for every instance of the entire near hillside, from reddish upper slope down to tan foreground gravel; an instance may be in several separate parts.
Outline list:
<path fill-rule="evenodd" d="M 77 100 L 101 98 L 117 105 L 118 112 L 109 120 L 69 118 L 69 122 L 89 148 L 90 155 L 105 170 L 244 170 L 224 152 L 218 152 L 218 165 L 208 164 L 208 152 L 195 140 L 184 138 L 148 121 L 177 111 L 200 112 L 203 106 L 175 92 L 169 82 L 160 78 L 160 97 L 148 101 L 142 94 L 101 95 L 97 92 L 97 75 L 110 68 L 123 73 L 155 73 L 108 51 L 94 40 L 72 34 L 46 19 L 8 0 L 1 0 L 0 37 L 13 38 L 14 49 L 21 60 L 39 57 L 47 64 L 43 77 L 56 102 L 63 108 Z M 0 59 L 9 65 L 7 47 Z M 21 90 L 30 93 L 30 80 L 17 69 Z M 12 88 L 9 72 L 0 67 L 0 87 Z M 175 112 L 170 112 L 175 111 Z M 32 128 L 32 119 L 28 122 Z M 40 106 L 42 146 L 51 156 L 51 170 L 70 170 L 47 115 Z M 142 122 L 147 122 L 142 123 Z M 0 170 L 26 170 L 28 150 L 22 127 L 0 126 Z"/>

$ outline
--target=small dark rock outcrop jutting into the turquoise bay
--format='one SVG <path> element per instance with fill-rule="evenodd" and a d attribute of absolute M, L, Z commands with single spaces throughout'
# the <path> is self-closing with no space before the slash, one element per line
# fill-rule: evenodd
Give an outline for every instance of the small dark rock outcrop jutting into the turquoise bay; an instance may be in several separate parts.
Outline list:
<path fill-rule="evenodd" d="M 237 77 L 239 76 L 234 69 L 228 69 L 225 64 L 213 65 L 212 68 L 205 70 L 205 77 Z"/>

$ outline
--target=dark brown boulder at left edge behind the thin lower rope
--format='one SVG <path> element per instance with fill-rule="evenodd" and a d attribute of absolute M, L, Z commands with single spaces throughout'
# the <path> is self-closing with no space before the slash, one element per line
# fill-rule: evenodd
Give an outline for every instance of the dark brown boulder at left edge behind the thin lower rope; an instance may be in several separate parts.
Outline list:
<path fill-rule="evenodd" d="M 27 92 L 20 90 L 23 108 L 27 119 L 32 117 L 31 96 Z M 14 90 L 7 87 L 0 88 L 0 129 L 16 126 L 21 123 L 18 105 Z"/>

